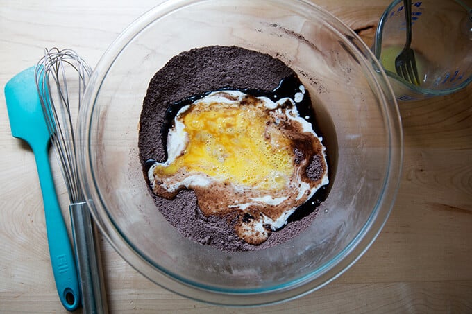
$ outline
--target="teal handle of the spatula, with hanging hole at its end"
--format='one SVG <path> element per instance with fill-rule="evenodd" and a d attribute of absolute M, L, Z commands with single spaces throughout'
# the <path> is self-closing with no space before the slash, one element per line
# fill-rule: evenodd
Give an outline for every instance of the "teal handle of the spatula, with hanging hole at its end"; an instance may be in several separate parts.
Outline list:
<path fill-rule="evenodd" d="M 74 311 L 81 304 L 78 276 L 62 212 L 60 211 L 56 189 L 54 188 L 48 148 L 34 148 L 37 173 L 40 177 L 49 255 L 53 268 L 60 302 L 68 311 Z"/>

